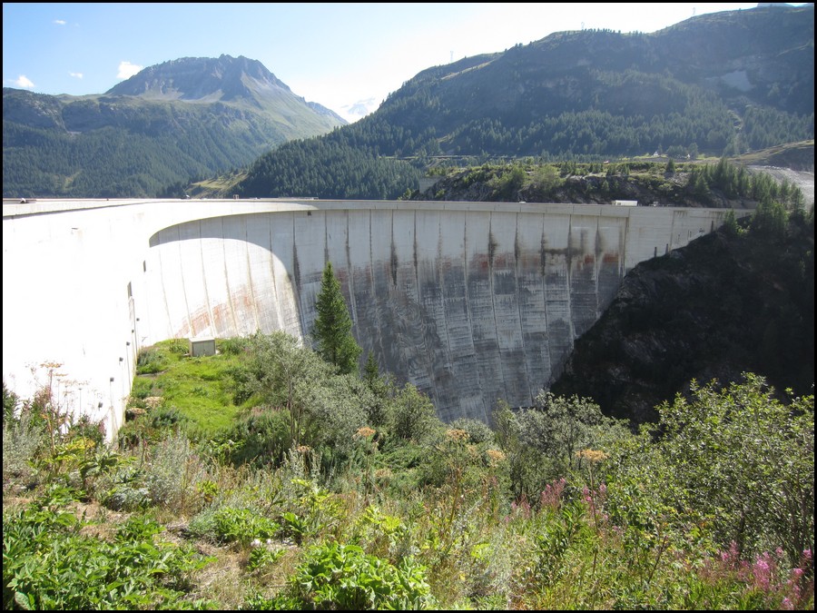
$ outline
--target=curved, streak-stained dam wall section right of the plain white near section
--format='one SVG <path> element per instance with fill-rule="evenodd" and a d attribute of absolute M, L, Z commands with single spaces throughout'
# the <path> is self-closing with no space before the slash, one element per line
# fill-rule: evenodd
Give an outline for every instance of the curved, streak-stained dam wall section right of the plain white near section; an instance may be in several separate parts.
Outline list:
<path fill-rule="evenodd" d="M 340 203 L 338 203 L 340 204 Z M 355 203 L 185 222 L 151 238 L 151 335 L 283 330 L 309 342 L 326 262 L 353 333 L 442 420 L 529 406 L 635 263 L 725 211 L 587 205 Z"/>

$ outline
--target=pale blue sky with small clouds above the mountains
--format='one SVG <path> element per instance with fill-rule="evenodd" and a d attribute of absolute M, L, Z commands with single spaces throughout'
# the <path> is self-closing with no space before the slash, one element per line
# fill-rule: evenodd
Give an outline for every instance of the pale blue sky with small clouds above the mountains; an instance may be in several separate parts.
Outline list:
<path fill-rule="evenodd" d="M 753 6 L 4 3 L 3 86 L 103 94 L 147 66 L 181 57 L 243 55 L 264 64 L 293 93 L 354 121 L 431 66 L 504 51 L 553 32 L 649 33 L 693 15 Z"/>

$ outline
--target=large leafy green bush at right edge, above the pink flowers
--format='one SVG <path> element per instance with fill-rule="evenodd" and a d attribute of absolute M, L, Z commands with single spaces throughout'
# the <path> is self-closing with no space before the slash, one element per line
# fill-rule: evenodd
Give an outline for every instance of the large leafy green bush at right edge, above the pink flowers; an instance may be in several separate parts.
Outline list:
<path fill-rule="evenodd" d="M 724 549 L 777 547 L 793 563 L 814 543 L 814 397 L 777 400 L 763 377 L 698 386 L 658 407 L 660 447 L 693 518 L 714 522 Z"/>

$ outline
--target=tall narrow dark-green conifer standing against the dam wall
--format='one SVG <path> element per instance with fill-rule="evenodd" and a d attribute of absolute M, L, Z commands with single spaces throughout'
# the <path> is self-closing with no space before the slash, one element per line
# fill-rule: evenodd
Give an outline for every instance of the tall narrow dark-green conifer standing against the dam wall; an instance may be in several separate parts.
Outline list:
<path fill-rule="evenodd" d="M 341 373 L 357 371 L 358 358 L 363 350 L 352 336 L 349 308 L 340 292 L 340 282 L 332 270 L 332 262 L 326 262 L 323 269 L 315 308 L 318 316 L 312 334 L 318 345 L 318 353 L 325 361 L 337 366 Z"/>

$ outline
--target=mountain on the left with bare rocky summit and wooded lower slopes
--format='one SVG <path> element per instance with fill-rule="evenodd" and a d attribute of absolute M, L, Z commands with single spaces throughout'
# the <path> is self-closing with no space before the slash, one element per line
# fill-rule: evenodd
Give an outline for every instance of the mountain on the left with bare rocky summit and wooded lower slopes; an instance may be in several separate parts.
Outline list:
<path fill-rule="evenodd" d="M 4 88 L 3 195 L 182 195 L 194 178 L 343 124 L 261 63 L 229 55 L 145 68 L 105 94 Z"/>

